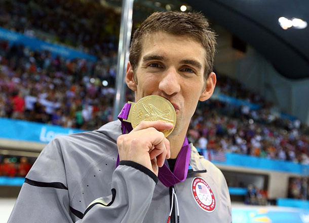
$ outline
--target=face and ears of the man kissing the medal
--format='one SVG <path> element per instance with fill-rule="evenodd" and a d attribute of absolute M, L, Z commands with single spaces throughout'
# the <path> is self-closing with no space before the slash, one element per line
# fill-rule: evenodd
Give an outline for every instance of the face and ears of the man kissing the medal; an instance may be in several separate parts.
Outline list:
<path fill-rule="evenodd" d="M 171 135 L 177 135 L 187 131 L 198 101 L 210 97 L 205 98 L 204 69 L 205 51 L 202 45 L 185 36 L 156 32 L 143 40 L 134 71 L 135 81 L 132 77 L 128 78 L 128 73 L 133 72 L 130 64 L 126 81 L 136 93 L 135 101 L 147 95 L 159 95 L 173 104 L 177 120 Z"/>

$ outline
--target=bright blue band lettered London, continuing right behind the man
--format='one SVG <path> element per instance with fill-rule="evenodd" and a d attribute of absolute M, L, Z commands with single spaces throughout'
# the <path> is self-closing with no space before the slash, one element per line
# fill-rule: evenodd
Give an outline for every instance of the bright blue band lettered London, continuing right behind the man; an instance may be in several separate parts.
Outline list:
<path fill-rule="evenodd" d="M 0 138 L 48 143 L 57 136 L 69 135 L 77 132 L 83 132 L 83 130 L 63 128 L 61 126 L 47 125 L 36 122 L 0 118 Z M 204 154 L 206 159 L 208 158 L 206 151 L 199 151 Z M 223 156 L 224 161 L 212 160 L 212 162 L 221 165 L 285 171 L 303 175 L 308 175 L 309 173 L 308 165 L 301 165 L 293 162 L 270 160 L 234 153 L 223 153 Z"/>

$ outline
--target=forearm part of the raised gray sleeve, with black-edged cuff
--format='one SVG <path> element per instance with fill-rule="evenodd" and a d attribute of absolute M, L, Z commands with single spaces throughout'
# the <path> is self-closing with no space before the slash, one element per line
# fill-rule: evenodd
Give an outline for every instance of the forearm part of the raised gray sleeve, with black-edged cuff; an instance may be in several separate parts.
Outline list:
<path fill-rule="evenodd" d="M 93 201 L 78 222 L 142 222 L 157 182 L 146 167 L 121 161 L 113 173 L 112 196 Z"/>

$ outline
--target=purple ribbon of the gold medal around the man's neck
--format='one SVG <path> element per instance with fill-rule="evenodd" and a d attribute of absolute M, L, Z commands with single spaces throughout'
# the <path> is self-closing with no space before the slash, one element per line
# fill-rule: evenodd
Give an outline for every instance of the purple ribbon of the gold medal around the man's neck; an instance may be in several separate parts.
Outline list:
<path fill-rule="evenodd" d="M 126 134 L 126 132 L 129 133 L 133 130 L 131 123 L 123 121 L 124 119 L 128 119 L 130 108 L 131 104 L 126 103 L 118 116 L 118 119 L 121 121 L 122 134 Z M 165 162 L 162 167 L 159 167 L 158 178 L 166 187 L 171 187 L 172 185 L 186 179 L 190 162 L 190 154 L 190 146 L 187 137 L 185 137 L 181 150 L 177 156 L 174 171 L 172 172 L 166 165 L 167 162 Z M 119 155 L 117 158 L 117 166 L 118 164 Z"/>

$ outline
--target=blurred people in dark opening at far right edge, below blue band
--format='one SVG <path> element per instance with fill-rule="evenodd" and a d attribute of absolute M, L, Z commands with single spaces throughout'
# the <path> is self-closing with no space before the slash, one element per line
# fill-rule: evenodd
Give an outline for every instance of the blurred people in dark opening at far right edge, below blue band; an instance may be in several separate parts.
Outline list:
<path fill-rule="evenodd" d="M 309 200 L 309 178 L 291 177 L 289 180 L 288 198 Z"/>

